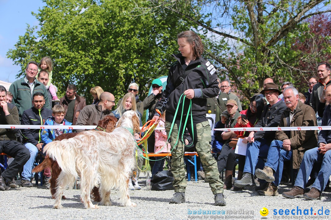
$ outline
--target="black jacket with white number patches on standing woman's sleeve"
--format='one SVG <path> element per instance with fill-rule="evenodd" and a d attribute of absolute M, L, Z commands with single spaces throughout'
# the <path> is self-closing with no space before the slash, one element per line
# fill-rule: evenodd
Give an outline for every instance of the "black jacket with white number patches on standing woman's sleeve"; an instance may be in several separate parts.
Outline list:
<path fill-rule="evenodd" d="M 162 113 L 166 111 L 167 118 L 169 115 L 174 115 L 178 105 L 179 110 L 182 109 L 183 99 L 179 102 L 180 96 L 187 89 L 194 90 L 194 98 L 192 100 L 192 116 L 206 114 L 207 98 L 213 98 L 218 95 L 219 88 L 216 76 L 216 69 L 207 60 L 198 57 L 191 60 L 185 71 L 182 68 L 184 57 L 181 54 L 172 54 L 177 60 L 170 66 L 167 79 L 166 89 L 157 106 L 157 109 Z M 187 71 L 191 71 L 182 81 L 182 76 Z M 184 114 L 187 113 L 190 101 L 185 99 Z M 179 112 L 180 113 L 180 112 Z M 159 115 L 155 113 L 155 115 Z"/>

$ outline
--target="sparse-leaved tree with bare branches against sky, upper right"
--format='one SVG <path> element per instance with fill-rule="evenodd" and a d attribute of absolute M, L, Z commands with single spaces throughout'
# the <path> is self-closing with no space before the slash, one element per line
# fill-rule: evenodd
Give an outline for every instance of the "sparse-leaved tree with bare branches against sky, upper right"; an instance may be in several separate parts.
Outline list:
<path fill-rule="evenodd" d="M 241 96 L 259 92 L 267 77 L 294 84 L 305 76 L 297 68 L 300 51 L 292 49 L 307 37 L 305 20 L 331 12 L 330 0 L 150 0 L 147 12 L 176 12 L 203 33 L 205 57 L 218 76 L 230 79 Z"/>

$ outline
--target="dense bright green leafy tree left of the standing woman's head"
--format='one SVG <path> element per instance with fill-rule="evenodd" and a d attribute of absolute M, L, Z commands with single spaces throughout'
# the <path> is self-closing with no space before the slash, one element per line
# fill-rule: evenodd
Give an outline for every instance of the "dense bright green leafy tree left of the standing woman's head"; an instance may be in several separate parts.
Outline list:
<path fill-rule="evenodd" d="M 96 85 L 118 100 L 136 82 L 144 98 L 151 80 L 167 75 L 176 34 L 186 29 L 172 11 L 162 16 L 134 12 L 137 3 L 147 7 L 143 1 L 44 1 L 46 6 L 34 14 L 40 29 L 28 25 L 7 56 L 22 67 L 18 77 L 29 60 L 50 56 L 60 97 L 73 83 L 88 103 Z"/>

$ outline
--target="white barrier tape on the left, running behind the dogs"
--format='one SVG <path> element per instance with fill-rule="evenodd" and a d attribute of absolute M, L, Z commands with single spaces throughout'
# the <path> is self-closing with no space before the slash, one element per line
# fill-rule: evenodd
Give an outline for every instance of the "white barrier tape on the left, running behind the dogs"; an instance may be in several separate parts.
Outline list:
<path fill-rule="evenodd" d="M 0 125 L 0 128 L 11 129 L 95 129 L 96 125 Z M 140 127 L 141 129 L 142 127 Z M 155 130 L 164 130 L 164 127 L 156 127 Z"/>

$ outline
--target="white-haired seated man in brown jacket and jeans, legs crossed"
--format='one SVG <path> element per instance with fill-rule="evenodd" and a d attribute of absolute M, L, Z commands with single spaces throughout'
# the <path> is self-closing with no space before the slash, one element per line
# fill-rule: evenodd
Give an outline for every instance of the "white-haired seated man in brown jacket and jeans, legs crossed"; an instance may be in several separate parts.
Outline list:
<path fill-rule="evenodd" d="M 314 110 L 299 101 L 299 92 L 293 86 L 283 91 L 285 105 L 279 127 L 316 126 Z M 300 168 L 306 150 L 317 146 L 317 131 L 276 131 L 275 140 L 271 142 L 267 162 L 262 169 L 256 169 L 259 179 L 267 181 L 264 190 L 257 193 L 261 196 L 278 196 L 278 185 L 282 178 L 284 161 L 292 161 L 292 168 Z"/>

